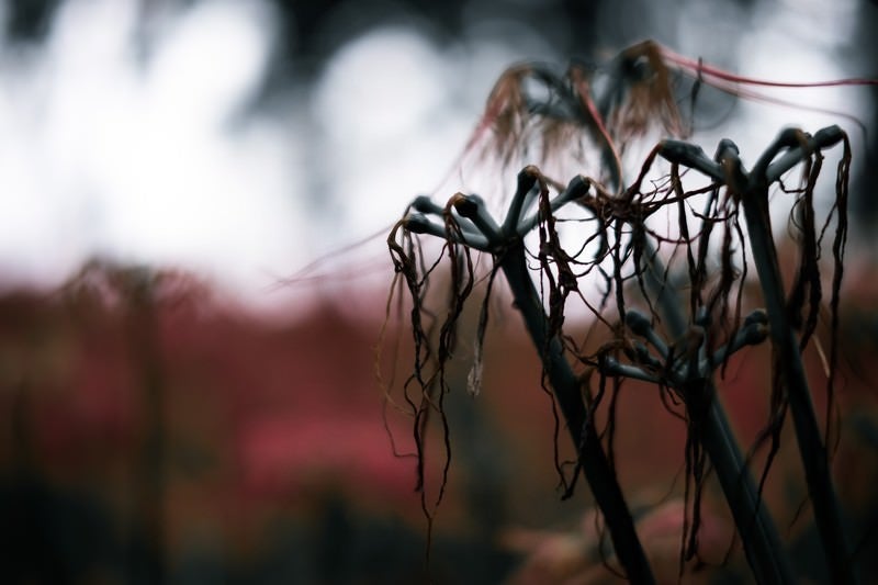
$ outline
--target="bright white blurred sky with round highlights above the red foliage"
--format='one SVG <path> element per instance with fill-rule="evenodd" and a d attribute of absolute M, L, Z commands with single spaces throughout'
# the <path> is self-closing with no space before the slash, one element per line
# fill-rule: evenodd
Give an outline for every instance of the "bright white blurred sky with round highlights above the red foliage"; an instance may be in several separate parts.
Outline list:
<path fill-rule="evenodd" d="M 740 72 L 852 75 L 830 53 L 852 31 L 853 5 L 759 4 L 742 33 Z M 69 0 L 45 47 L 0 55 L 5 285 L 52 284 L 102 255 L 190 269 L 259 300 L 277 279 L 390 226 L 413 195 L 436 188 L 507 65 L 566 58 L 533 31 L 509 35 L 503 21 L 451 48 L 416 30 L 373 30 L 338 47 L 316 87 L 292 88 L 289 106 L 244 115 L 278 34 L 266 4 L 193 2 L 153 27 L 146 57 L 137 18 L 133 0 Z M 677 26 L 680 52 L 721 55 L 703 23 L 684 15 Z M 857 113 L 849 90 L 790 98 Z M 759 148 L 779 120 L 833 122 L 758 112 L 748 134 L 734 136 L 742 147 Z M 320 196 L 331 220 L 312 209 Z M 382 239 L 373 243 L 381 260 Z"/>

